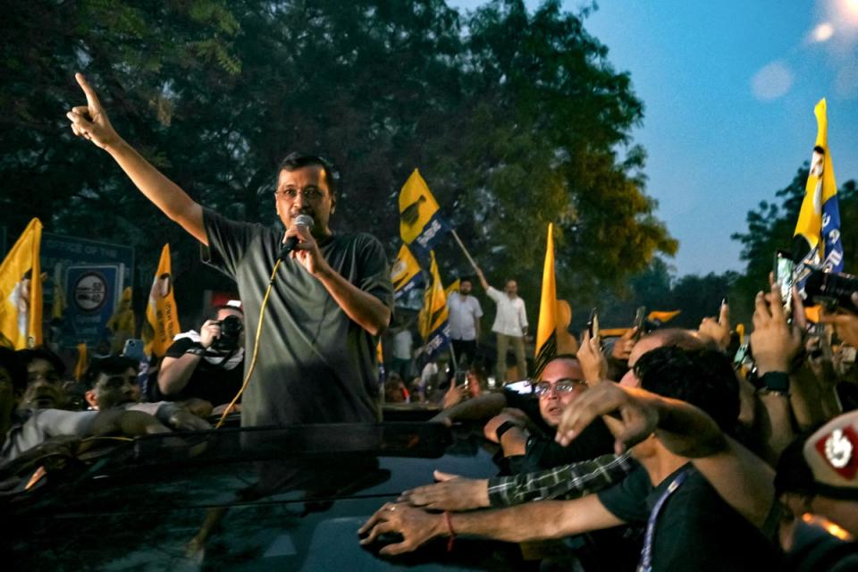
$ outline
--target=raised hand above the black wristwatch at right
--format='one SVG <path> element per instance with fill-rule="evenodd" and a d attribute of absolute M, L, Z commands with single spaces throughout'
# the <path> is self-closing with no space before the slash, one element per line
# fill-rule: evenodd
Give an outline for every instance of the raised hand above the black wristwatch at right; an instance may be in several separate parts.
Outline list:
<path fill-rule="evenodd" d="M 751 349 L 760 375 L 789 372 L 793 358 L 802 348 L 802 334 L 798 326 L 787 324 L 780 300 L 777 283 L 771 285 L 768 299 L 760 292 L 754 300 Z M 794 307 L 794 310 L 796 315 L 803 314 L 803 307 Z"/>

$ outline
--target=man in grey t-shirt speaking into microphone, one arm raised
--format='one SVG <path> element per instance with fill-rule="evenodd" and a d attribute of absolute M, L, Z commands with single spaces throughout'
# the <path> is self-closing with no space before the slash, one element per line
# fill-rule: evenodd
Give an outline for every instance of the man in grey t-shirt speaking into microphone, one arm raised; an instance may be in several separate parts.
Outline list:
<path fill-rule="evenodd" d="M 265 290 L 282 258 L 242 397 L 241 425 L 377 421 L 375 341 L 391 320 L 390 272 L 372 235 L 335 233 L 328 226 L 340 180 L 332 164 L 300 153 L 283 159 L 274 206 L 285 234 L 228 220 L 200 206 L 130 147 L 93 88 L 75 77 L 87 105 L 67 114 L 71 130 L 113 156 L 149 200 L 199 240 L 203 260 L 238 283 L 251 352 Z"/>

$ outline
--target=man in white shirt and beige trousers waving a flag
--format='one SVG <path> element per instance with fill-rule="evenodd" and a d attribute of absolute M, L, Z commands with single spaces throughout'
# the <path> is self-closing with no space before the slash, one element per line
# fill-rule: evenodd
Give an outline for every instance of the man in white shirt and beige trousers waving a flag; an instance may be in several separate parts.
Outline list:
<path fill-rule="evenodd" d="M 525 336 L 527 335 L 527 315 L 525 312 L 525 300 L 518 298 L 518 283 L 508 280 L 501 290 L 495 290 L 485 281 L 485 276 L 478 271 L 480 283 L 483 284 L 485 293 L 498 305 L 498 313 L 494 317 L 492 332 L 498 341 L 497 380 L 506 381 L 507 374 L 507 349 L 512 345 L 516 354 L 518 366 L 518 378 L 527 376 L 527 362 L 525 360 Z"/>

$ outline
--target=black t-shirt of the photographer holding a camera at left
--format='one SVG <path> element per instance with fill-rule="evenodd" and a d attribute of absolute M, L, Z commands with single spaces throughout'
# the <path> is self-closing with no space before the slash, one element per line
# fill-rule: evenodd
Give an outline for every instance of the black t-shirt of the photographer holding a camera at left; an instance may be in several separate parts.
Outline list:
<path fill-rule="evenodd" d="M 172 342 L 165 357 L 182 357 L 188 349 L 197 344 L 190 338 L 180 338 Z M 231 352 L 206 351 L 200 358 L 188 384 L 173 395 L 161 394 L 165 400 L 179 401 L 199 398 L 214 407 L 229 403 L 241 389 L 244 379 L 244 349 Z M 239 400 L 240 402 L 240 400 Z"/>

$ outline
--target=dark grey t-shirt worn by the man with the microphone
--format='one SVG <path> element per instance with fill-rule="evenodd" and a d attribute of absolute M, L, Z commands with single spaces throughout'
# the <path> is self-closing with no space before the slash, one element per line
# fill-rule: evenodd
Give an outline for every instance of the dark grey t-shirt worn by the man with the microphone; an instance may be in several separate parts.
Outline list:
<path fill-rule="evenodd" d="M 209 209 L 203 218 L 209 244 L 203 260 L 238 282 L 247 370 L 282 232 L 230 221 Z M 381 242 L 366 233 L 334 234 L 319 240 L 319 248 L 333 270 L 392 308 Z M 374 336 L 349 319 L 322 282 L 287 258 L 265 307 L 257 365 L 241 400 L 241 425 L 379 420 L 375 346 Z"/>

